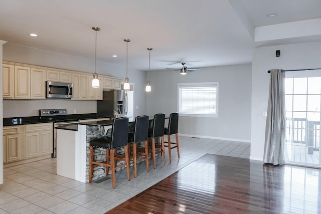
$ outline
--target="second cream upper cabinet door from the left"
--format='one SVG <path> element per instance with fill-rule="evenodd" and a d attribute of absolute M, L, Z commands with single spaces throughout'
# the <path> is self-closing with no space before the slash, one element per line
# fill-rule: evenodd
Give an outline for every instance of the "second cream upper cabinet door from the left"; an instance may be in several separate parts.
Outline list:
<path fill-rule="evenodd" d="M 30 98 L 30 67 L 15 66 L 15 98 Z"/>

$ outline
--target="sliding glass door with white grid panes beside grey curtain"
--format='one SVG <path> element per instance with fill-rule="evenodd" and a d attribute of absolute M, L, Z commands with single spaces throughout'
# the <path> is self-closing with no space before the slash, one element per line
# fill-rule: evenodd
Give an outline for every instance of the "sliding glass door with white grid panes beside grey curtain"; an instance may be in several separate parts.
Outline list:
<path fill-rule="evenodd" d="M 321 70 L 285 73 L 285 162 L 321 167 Z"/>

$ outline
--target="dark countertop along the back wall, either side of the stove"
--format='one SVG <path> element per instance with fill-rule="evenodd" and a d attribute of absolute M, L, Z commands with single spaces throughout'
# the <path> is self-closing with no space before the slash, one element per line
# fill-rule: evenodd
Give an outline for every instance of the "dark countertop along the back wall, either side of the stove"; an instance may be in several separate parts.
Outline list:
<path fill-rule="evenodd" d="M 108 116 L 99 116 L 96 113 L 91 114 L 68 114 L 65 116 L 66 120 L 87 120 L 87 119 L 98 119 L 98 118 L 107 118 Z M 13 125 L 27 125 L 27 124 L 36 124 L 36 123 L 50 123 L 54 122 L 52 118 L 40 119 L 39 116 L 32 117 L 7 117 L 4 118 L 4 126 L 13 126 Z"/>

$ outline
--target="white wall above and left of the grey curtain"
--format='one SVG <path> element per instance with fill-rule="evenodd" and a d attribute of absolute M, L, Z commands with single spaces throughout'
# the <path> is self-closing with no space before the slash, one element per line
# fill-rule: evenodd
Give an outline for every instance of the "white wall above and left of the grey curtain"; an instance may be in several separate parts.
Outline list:
<path fill-rule="evenodd" d="M 281 56 L 275 57 L 280 50 Z M 263 160 L 270 69 L 321 68 L 321 42 L 281 45 L 253 49 L 252 61 L 252 114 L 250 159 Z"/>

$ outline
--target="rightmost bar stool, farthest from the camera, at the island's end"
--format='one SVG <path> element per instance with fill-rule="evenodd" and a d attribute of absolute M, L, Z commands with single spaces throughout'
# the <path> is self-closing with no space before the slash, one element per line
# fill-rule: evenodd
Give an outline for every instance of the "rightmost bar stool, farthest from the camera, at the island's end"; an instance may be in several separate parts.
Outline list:
<path fill-rule="evenodd" d="M 178 113 L 170 114 L 169 126 L 164 130 L 164 134 L 167 135 L 167 139 L 168 139 L 167 142 L 164 142 L 165 143 L 164 146 L 169 147 L 170 162 L 172 162 L 171 149 L 177 148 L 177 155 L 180 158 L 178 126 L 179 126 L 179 114 Z M 171 142 L 172 134 L 175 134 L 176 142 Z M 172 147 L 172 144 L 174 144 L 175 146 Z"/>

